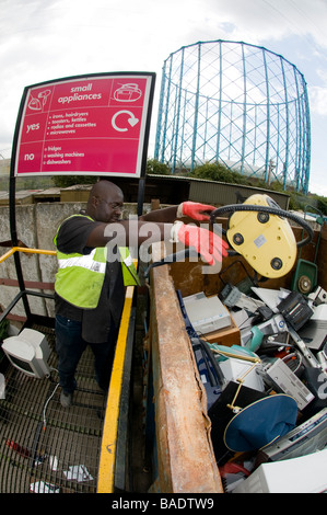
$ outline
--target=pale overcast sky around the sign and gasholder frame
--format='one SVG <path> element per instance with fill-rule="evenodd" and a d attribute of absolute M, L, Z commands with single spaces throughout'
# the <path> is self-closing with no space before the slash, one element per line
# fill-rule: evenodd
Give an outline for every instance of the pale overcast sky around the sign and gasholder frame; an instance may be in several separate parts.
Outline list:
<path fill-rule="evenodd" d="M 182 46 L 212 39 L 264 46 L 304 75 L 310 191 L 327 196 L 327 0 L 0 0 L 0 154 L 10 157 L 25 85 L 82 73 L 154 71 L 153 157 L 164 60 Z"/>

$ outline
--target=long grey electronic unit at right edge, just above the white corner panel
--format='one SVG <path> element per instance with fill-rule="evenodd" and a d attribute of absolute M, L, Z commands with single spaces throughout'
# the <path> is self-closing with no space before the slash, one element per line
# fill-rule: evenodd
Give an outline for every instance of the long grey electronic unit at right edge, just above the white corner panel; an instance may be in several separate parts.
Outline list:
<path fill-rule="evenodd" d="M 299 458 L 327 445 L 327 408 L 300 424 L 287 435 L 264 447 L 257 455 L 256 466 L 267 461 Z"/>

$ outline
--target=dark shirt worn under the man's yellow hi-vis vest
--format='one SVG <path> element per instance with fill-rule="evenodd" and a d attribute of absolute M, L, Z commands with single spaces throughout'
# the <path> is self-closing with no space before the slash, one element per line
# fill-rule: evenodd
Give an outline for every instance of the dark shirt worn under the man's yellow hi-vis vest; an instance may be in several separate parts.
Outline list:
<path fill-rule="evenodd" d="M 57 248 L 60 252 L 70 254 L 87 254 L 93 249 L 86 247 L 90 232 L 97 221 L 92 221 L 86 217 L 71 217 L 61 225 Z M 110 324 L 119 327 L 125 287 L 121 272 L 121 263 L 115 260 L 107 261 L 105 279 L 101 291 L 98 305 L 95 309 L 81 309 L 67 302 L 58 294 L 55 294 L 56 313 L 71 320 L 82 322 L 82 336 L 89 343 L 103 343 L 107 340 Z"/>

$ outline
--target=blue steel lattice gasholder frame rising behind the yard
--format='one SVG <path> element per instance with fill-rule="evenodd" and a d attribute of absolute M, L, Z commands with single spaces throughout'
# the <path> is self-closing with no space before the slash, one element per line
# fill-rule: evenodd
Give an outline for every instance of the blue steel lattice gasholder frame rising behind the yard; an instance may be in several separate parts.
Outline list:
<path fill-rule="evenodd" d="M 176 171 L 221 162 L 307 193 L 311 127 L 306 82 L 264 47 L 199 42 L 164 61 L 154 158 Z"/>

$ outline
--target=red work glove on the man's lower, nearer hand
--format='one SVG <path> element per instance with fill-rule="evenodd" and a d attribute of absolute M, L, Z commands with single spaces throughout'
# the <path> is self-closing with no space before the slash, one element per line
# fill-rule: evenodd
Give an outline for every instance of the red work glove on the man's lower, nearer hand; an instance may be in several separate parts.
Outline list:
<path fill-rule="evenodd" d="M 227 256 L 229 244 L 208 229 L 175 221 L 171 237 L 173 242 L 194 247 L 209 265 L 213 265 L 215 262 L 220 263 L 223 256 Z"/>

